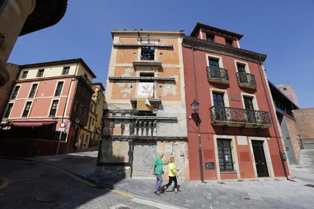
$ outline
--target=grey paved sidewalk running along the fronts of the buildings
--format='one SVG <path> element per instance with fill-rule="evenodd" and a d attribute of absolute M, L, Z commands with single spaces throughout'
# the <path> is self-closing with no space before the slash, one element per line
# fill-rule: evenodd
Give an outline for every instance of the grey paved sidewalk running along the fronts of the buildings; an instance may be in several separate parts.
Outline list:
<path fill-rule="evenodd" d="M 95 173 L 97 154 L 98 151 L 87 150 L 26 159 L 60 167 L 98 184 L 112 185 L 120 191 L 185 208 L 312 208 L 314 205 L 314 188 L 304 186 L 308 181 L 298 178 L 307 175 L 306 178 L 313 178 L 314 182 L 314 175 L 308 175 L 308 170 L 299 169 L 296 181 L 178 182 L 181 195 L 169 188 L 168 193 L 158 196 L 152 192 L 154 180 L 117 179 Z"/>

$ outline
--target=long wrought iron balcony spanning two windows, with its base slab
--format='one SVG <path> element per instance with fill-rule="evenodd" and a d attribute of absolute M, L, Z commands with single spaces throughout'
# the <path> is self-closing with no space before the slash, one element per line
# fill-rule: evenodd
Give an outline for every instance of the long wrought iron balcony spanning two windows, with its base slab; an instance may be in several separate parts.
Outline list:
<path fill-rule="evenodd" d="M 268 112 L 213 106 L 209 109 L 211 124 L 248 128 L 269 128 L 272 123 Z"/>

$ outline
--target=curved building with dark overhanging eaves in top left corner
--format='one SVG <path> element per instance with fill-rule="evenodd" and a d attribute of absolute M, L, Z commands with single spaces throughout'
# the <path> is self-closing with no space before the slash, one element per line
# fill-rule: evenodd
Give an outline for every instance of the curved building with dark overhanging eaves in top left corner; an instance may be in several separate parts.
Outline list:
<path fill-rule="evenodd" d="M 18 37 L 57 24 L 66 7 L 67 0 L 0 1 L 0 86 L 16 77 L 6 64 Z"/>

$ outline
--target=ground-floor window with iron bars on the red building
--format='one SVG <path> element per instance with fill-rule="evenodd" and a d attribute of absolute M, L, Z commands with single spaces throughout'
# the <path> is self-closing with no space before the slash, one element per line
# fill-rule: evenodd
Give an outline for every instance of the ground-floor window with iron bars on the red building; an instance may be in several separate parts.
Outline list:
<path fill-rule="evenodd" d="M 230 140 L 217 139 L 217 149 L 220 171 L 233 171 Z"/>

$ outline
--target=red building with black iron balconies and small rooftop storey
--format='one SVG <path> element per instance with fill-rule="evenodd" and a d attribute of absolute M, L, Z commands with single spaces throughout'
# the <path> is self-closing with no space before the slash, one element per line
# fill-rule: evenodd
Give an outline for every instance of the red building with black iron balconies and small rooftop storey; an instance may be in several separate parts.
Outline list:
<path fill-rule="evenodd" d="M 266 55 L 241 49 L 242 37 L 201 23 L 183 36 L 190 180 L 290 177 Z"/>

